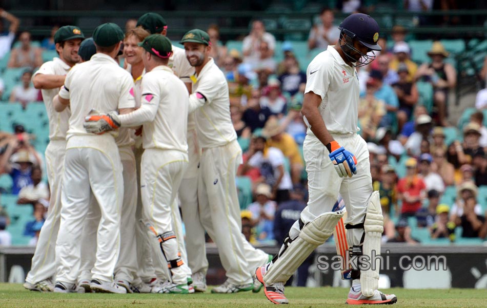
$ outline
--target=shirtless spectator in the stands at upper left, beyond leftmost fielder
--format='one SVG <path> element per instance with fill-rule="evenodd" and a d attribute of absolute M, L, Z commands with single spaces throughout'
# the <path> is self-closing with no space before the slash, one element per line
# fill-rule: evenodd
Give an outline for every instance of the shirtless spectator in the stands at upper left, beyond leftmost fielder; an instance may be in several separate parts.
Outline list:
<path fill-rule="evenodd" d="M 18 37 L 19 47 L 12 49 L 7 67 L 25 67 L 34 69 L 42 65 L 42 50 L 32 46 L 31 35 L 24 31 Z"/>

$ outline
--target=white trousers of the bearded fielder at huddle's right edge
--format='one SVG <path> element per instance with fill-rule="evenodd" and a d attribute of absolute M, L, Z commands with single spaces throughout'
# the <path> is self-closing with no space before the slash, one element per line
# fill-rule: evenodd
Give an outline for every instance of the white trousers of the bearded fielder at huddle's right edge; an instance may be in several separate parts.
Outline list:
<path fill-rule="evenodd" d="M 205 148 L 201 153 L 198 172 L 200 220 L 218 246 L 221 264 L 232 284 L 251 283 L 255 268 L 268 261 L 268 255 L 252 247 L 241 232 L 235 183 L 237 168 L 241 163 L 242 149 L 235 140 L 224 146 Z M 205 255 L 205 251 L 198 254 Z"/>

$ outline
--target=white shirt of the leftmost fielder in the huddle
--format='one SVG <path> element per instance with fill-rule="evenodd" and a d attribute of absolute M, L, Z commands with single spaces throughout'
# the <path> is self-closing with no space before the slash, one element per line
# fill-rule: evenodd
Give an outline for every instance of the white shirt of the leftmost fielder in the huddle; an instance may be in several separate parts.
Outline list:
<path fill-rule="evenodd" d="M 66 75 L 71 66 L 66 64 L 63 60 L 55 57 L 52 61 L 46 62 L 40 66 L 34 76 L 37 74 L 45 75 Z M 49 118 L 49 140 L 66 140 L 66 132 L 68 131 L 68 121 L 71 115 L 70 108 L 64 109 L 62 112 L 56 112 L 52 105 L 52 99 L 59 93 L 59 88 L 42 89 L 42 98 L 46 106 L 47 117 Z"/>

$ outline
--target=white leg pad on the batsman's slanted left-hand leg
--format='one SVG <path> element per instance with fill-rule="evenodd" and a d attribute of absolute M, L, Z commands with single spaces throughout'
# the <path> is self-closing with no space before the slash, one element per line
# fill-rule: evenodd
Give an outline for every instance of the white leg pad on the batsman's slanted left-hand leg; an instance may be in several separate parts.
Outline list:
<path fill-rule="evenodd" d="M 303 226 L 298 237 L 289 244 L 276 262 L 269 266 L 264 276 L 266 284 L 288 281 L 314 249 L 333 234 L 335 225 L 342 217 L 343 211 L 327 212 Z"/>

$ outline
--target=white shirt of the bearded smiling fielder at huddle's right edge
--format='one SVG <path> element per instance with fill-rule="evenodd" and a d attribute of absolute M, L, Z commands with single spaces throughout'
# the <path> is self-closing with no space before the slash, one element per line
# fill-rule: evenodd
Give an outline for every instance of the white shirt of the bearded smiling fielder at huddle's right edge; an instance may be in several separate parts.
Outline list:
<path fill-rule="evenodd" d="M 212 58 L 196 76 L 190 101 L 198 101 L 196 92 L 206 98 L 206 102 L 194 111 L 199 145 L 212 148 L 236 140 L 237 133 L 230 118 L 227 79 Z"/>

